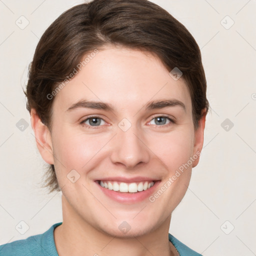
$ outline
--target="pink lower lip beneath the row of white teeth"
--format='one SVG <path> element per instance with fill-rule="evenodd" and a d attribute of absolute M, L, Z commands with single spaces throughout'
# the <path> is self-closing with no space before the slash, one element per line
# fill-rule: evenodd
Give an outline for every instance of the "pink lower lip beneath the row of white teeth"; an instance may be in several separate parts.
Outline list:
<path fill-rule="evenodd" d="M 117 202 L 136 203 L 136 202 L 141 202 L 146 198 L 148 198 L 156 189 L 157 185 L 160 183 L 160 180 L 155 181 L 152 187 L 136 193 L 125 193 L 125 192 L 109 190 L 107 188 L 102 187 L 97 181 L 95 181 L 95 183 L 98 185 L 98 187 L 101 189 L 101 191 L 105 195 L 107 195 L 108 197 L 110 197 L 111 199 Z"/>

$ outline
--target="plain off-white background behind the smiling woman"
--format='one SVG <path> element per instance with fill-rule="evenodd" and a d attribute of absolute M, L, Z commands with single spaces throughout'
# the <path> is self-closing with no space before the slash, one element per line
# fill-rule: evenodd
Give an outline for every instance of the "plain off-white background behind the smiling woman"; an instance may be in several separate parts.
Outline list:
<path fill-rule="evenodd" d="M 212 108 L 199 164 L 172 214 L 170 233 L 204 256 L 256 255 L 256 1 L 152 1 L 197 41 Z M 61 192 L 47 194 L 39 188 L 43 160 L 22 86 L 44 30 L 81 2 L 0 0 L 0 244 L 42 233 L 62 221 Z M 21 118 L 29 123 L 27 128 L 18 123 L 23 131 L 16 126 Z M 24 234 L 20 221 L 29 227 Z"/>

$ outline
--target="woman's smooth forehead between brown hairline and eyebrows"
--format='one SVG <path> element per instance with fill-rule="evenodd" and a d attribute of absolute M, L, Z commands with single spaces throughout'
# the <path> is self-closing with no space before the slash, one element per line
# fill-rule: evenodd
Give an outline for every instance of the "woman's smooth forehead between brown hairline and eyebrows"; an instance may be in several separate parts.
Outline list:
<path fill-rule="evenodd" d="M 85 99 L 137 111 L 149 101 L 172 98 L 183 102 L 191 112 L 185 81 L 174 80 L 151 53 L 112 46 L 96 54 L 86 53 L 82 60 L 85 58 L 78 73 L 55 95 L 53 108 L 55 105 L 67 109 Z"/>

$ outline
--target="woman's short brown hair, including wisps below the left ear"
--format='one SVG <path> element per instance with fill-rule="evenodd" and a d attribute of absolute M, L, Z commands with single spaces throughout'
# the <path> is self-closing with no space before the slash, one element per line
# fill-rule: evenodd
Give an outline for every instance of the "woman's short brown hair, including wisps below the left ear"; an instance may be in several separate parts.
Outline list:
<path fill-rule="evenodd" d="M 95 48 L 121 45 L 156 55 L 168 71 L 177 67 L 188 87 L 194 127 L 208 110 L 200 49 L 189 31 L 166 10 L 148 0 L 92 0 L 63 12 L 41 36 L 29 65 L 25 95 L 51 130 L 53 99 L 48 94 Z M 59 191 L 54 165 L 44 187 Z"/>

